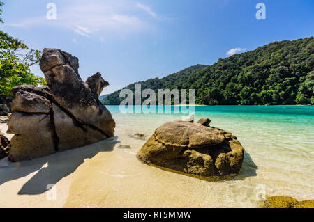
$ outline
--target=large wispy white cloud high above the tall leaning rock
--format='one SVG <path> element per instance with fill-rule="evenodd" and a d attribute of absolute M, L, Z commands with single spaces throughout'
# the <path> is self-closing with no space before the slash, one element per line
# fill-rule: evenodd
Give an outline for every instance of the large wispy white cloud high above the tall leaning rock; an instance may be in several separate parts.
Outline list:
<path fill-rule="evenodd" d="M 57 3 L 57 19 L 47 20 L 45 11 L 38 17 L 23 17 L 17 22 L 8 22 L 5 26 L 15 26 L 24 29 L 33 27 L 53 27 L 74 31 L 78 35 L 91 37 L 92 35 L 107 35 L 108 33 L 132 33 L 152 28 L 152 25 L 140 17 L 138 8 L 149 15 L 157 17 L 151 8 L 129 1 L 97 1 L 89 3 L 80 1 L 63 1 Z"/>

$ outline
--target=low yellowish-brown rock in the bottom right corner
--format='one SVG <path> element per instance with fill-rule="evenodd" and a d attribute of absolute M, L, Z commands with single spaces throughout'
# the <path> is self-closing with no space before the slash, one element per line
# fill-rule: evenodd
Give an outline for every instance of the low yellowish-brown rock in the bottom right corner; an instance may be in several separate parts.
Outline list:
<path fill-rule="evenodd" d="M 271 196 L 262 201 L 262 208 L 314 208 L 314 200 L 298 201 L 289 196 Z"/>

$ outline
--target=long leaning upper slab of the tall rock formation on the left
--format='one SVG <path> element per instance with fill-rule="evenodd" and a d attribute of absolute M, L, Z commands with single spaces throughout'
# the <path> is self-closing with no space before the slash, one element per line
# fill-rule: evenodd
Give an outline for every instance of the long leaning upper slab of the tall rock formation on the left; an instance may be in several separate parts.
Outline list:
<path fill-rule="evenodd" d="M 40 60 L 40 68 L 57 103 L 78 122 L 95 127 L 108 137 L 113 136 L 115 122 L 111 113 L 82 81 L 76 64 L 77 58 L 59 49 L 44 49 Z"/>

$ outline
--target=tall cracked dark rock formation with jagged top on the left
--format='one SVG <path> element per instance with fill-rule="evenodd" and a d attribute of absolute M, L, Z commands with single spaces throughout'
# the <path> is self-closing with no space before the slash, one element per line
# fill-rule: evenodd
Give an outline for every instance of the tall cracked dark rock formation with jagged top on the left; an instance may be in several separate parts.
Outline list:
<path fill-rule="evenodd" d="M 13 88 L 9 117 L 10 161 L 43 157 L 96 143 L 114 135 L 115 122 L 98 96 L 108 86 L 100 73 L 85 83 L 78 59 L 59 49 L 44 49 L 40 68 L 48 87 Z"/>

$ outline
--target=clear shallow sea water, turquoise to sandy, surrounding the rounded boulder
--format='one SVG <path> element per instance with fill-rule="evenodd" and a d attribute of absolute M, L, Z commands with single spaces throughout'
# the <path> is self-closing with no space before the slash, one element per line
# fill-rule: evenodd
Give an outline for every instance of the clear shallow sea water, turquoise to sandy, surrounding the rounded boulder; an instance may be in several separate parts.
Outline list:
<path fill-rule="evenodd" d="M 257 207 L 263 189 L 267 196 L 314 199 L 313 106 L 195 106 L 195 120 L 210 118 L 212 126 L 232 132 L 246 149 L 239 175 L 220 182 L 137 161 L 144 141 L 130 136 L 148 138 L 183 114 L 123 114 L 119 106 L 107 108 L 117 122 L 114 149 L 77 168 L 65 207 Z"/>

